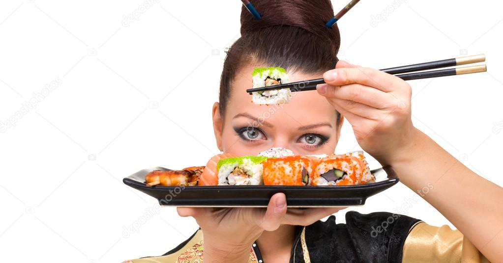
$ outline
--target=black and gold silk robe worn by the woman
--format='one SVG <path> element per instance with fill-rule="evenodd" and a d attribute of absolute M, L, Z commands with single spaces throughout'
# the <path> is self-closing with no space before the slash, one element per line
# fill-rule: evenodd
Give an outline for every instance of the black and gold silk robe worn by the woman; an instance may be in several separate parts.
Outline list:
<path fill-rule="evenodd" d="M 201 263 L 202 230 L 161 256 L 124 263 Z M 260 247 L 250 247 L 248 263 L 265 262 Z M 488 262 L 475 246 L 448 226 L 436 227 L 405 215 L 388 212 L 346 213 L 346 223 L 330 216 L 308 226 L 297 226 L 290 263 L 315 262 Z M 244 262 L 243 262 L 244 263 Z"/>

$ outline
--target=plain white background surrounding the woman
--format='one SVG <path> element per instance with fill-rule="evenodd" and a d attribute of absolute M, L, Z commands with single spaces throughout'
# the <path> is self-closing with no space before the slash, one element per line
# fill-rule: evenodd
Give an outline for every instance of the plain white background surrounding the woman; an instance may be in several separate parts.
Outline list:
<path fill-rule="evenodd" d="M 15 121 L 0 134 L 3 261 L 120 262 L 162 254 L 197 229 L 175 208 L 146 219 L 156 201 L 121 180 L 153 166 L 204 165 L 217 153 L 211 105 L 240 10 L 237 0 L 0 4 L 0 120 Z M 410 81 L 413 122 L 503 185 L 500 11 L 498 1 L 362 1 L 339 27 L 340 58 L 375 68 L 485 53 L 487 73 Z M 34 108 L 17 113 L 34 97 Z M 344 125 L 337 151 L 355 146 Z M 450 224 L 417 200 L 399 184 L 352 209 L 401 208 Z"/>

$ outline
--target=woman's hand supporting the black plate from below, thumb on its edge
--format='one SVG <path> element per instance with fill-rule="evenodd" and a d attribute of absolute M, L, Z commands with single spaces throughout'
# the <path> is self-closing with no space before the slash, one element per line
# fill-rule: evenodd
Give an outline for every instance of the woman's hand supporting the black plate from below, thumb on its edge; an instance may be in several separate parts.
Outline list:
<path fill-rule="evenodd" d="M 277 193 L 265 208 L 178 207 L 181 216 L 192 216 L 203 231 L 205 262 L 247 262 L 251 245 L 263 231 L 281 224 L 310 225 L 343 208 L 298 209 L 286 206 L 286 196 Z"/>

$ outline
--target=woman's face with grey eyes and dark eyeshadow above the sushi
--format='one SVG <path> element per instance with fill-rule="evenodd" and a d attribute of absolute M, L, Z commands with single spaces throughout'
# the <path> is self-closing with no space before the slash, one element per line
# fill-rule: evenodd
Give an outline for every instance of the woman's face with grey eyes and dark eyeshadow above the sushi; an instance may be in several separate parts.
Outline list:
<path fill-rule="evenodd" d="M 337 113 L 328 101 L 313 91 L 292 92 L 289 103 L 257 105 L 245 90 L 251 88 L 251 72 L 246 66 L 237 72 L 227 102 L 225 116 L 213 106 L 213 126 L 218 148 L 237 156 L 257 155 L 272 147 L 295 154 L 334 153 L 340 135 Z M 320 78 L 321 75 L 287 72 L 290 82 Z"/>

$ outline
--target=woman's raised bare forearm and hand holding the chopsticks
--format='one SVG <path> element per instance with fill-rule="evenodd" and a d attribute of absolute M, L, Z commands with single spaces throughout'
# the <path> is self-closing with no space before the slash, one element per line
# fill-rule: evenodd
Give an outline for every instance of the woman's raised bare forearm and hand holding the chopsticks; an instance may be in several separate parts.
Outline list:
<path fill-rule="evenodd" d="M 414 128 L 410 86 L 396 76 L 344 61 L 323 78 L 327 84 L 318 85 L 318 93 L 349 120 L 360 146 L 382 165 L 391 165 L 400 182 L 421 193 L 491 262 L 501 260 L 503 209 L 495 200 L 503 198 L 502 188 Z"/>

